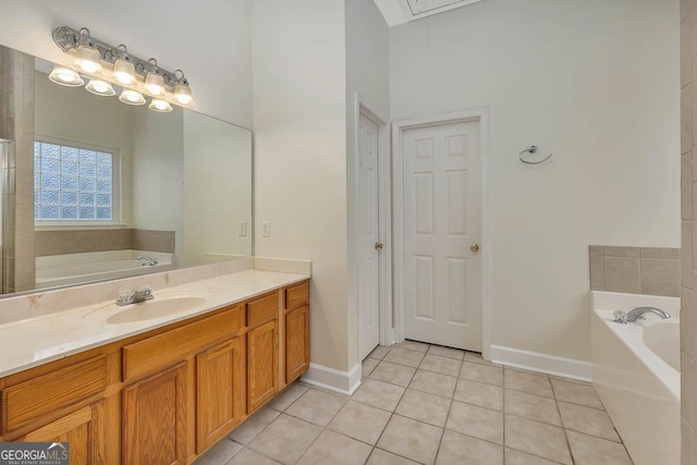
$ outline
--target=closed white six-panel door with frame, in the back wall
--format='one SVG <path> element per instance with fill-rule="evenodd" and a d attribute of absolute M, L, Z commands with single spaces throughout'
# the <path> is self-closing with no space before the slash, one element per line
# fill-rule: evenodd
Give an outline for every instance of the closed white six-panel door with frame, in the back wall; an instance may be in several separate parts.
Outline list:
<path fill-rule="evenodd" d="M 393 144 L 399 339 L 488 358 L 487 111 L 396 122 Z"/>

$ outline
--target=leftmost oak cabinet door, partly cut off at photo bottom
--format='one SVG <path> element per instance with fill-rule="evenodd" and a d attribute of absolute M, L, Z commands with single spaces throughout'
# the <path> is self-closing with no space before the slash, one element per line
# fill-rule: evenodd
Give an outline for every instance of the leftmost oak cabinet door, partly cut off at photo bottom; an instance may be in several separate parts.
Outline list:
<path fill-rule="evenodd" d="M 71 465 L 103 464 L 103 419 L 105 403 L 100 401 L 32 431 L 20 441 L 69 442 Z"/>

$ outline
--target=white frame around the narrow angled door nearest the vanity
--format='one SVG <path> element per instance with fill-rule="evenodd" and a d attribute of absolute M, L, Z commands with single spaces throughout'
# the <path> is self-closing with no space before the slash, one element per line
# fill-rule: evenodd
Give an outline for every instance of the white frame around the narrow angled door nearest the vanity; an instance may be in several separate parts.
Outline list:
<path fill-rule="evenodd" d="M 358 94 L 354 93 L 354 147 L 355 147 L 355 163 L 353 167 L 354 179 L 358 180 L 359 174 L 359 154 L 360 149 L 360 115 L 364 115 L 368 120 L 372 121 L 378 126 L 378 184 L 379 184 L 379 223 L 378 230 L 380 234 L 380 241 L 382 242 L 382 250 L 378 256 L 378 266 L 380 268 L 379 279 L 379 326 L 380 326 L 380 345 L 391 345 L 395 341 L 394 334 L 394 321 L 392 318 L 392 189 L 391 185 L 391 152 L 390 152 L 390 125 L 376 112 L 370 110 L 363 101 L 360 101 Z M 355 192 L 354 203 L 357 206 L 359 201 L 358 189 Z M 359 213 L 358 209 L 355 209 L 354 221 L 358 224 Z M 356 258 L 357 260 L 357 258 Z M 360 341 L 360 311 L 358 311 L 358 344 Z M 357 348 L 359 351 L 359 348 Z M 360 356 L 358 356 L 360 358 Z M 360 360 L 359 360 L 360 362 Z"/>

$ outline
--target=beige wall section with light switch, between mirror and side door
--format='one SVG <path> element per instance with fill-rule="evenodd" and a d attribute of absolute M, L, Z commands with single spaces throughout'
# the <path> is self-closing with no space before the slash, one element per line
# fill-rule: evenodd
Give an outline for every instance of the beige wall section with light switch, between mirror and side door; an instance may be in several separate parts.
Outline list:
<path fill-rule="evenodd" d="M 255 0 L 253 17 L 255 255 L 313 261 L 310 359 L 345 371 L 344 1 Z"/>

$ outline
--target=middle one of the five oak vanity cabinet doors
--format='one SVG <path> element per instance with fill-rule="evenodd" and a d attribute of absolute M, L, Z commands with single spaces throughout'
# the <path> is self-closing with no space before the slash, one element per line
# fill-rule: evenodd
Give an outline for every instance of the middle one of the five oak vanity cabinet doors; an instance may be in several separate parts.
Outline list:
<path fill-rule="evenodd" d="M 242 421 L 247 408 L 245 336 L 196 357 L 196 452 L 201 453 Z"/>

